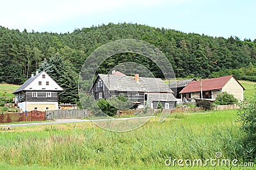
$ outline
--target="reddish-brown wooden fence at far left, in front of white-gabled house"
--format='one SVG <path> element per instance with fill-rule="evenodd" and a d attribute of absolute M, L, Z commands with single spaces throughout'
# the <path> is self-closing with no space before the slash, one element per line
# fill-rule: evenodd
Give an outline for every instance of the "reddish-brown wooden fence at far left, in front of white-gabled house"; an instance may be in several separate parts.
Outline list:
<path fill-rule="evenodd" d="M 28 112 L 15 112 L 15 113 L 1 113 L 0 123 L 12 122 L 31 122 L 31 121 L 44 121 L 45 111 L 28 111 Z"/>

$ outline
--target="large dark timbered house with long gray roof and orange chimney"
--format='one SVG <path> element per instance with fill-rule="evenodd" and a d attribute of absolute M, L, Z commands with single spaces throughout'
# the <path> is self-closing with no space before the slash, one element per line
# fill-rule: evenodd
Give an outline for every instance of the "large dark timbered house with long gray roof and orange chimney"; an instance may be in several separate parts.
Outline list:
<path fill-rule="evenodd" d="M 134 108 L 144 108 L 147 104 L 157 108 L 160 102 L 163 108 L 171 109 L 175 108 L 177 102 L 172 90 L 161 78 L 140 77 L 139 74 L 98 74 L 90 92 L 95 100 L 123 94 L 134 103 Z"/>

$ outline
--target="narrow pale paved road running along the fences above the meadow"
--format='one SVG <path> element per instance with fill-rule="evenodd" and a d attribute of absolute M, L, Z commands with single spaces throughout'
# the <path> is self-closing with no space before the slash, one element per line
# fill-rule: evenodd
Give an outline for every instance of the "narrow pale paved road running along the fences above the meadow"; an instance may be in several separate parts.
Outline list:
<path fill-rule="evenodd" d="M 154 116 L 152 116 L 154 117 Z M 133 118 L 151 118 L 151 117 L 132 117 L 132 118 L 116 118 L 116 120 L 129 120 Z M 93 120 L 95 122 L 112 120 L 111 118 L 102 118 Z M 2 126 L 10 126 L 10 127 L 18 127 L 18 126 L 31 126 L 31 125 L 51 125 L 51 124 L 68 124 L 68 123 L 79 123 L 79 122 L 90 122 L 88 119 L 59 119 L 52 122 L 38 122 L 38 123 L 28 123 L 28 124 L 8 124 L 8 125 L 0 125 Z"/>

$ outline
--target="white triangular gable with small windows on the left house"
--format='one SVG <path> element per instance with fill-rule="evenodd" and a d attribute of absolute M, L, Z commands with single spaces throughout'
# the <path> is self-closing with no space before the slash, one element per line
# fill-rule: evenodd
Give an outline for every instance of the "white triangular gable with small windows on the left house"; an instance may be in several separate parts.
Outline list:
<path fill-rule="evenodd" d="M 45 71 L 42 71 L 35 80 L 31 81 L 24 90 L 52 90 L 52 91 L 63 91 L 63 89 L 49 76 Z"/>

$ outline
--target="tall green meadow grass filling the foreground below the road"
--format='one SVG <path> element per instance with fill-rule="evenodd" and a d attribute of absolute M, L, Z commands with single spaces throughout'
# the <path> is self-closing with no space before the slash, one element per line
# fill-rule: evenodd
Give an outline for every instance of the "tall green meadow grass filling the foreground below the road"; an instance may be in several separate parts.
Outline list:
<path fill-rule="evenodd" d="M 0 168 L 170 169 L 164 166 L 169 157 L 205 160 L 216 152 L 242 161 L 236 112 L 173 114 L 163 123 L 156 117 L 131 132 L 105 131 L 90 122 L 15 127 L 0 133 Z"/>

